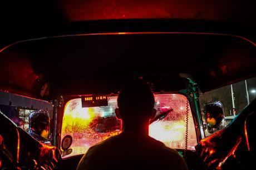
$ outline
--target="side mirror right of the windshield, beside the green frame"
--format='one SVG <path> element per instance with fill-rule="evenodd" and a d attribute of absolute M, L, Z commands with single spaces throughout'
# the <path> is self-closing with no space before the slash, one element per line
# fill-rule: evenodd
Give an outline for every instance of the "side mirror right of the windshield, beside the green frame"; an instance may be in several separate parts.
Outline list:
<path fill-rule="evenodd" d="M 224 111 L 221 102 L 205 103 L 204 115 L 206 128 L 209 133 L 214 133 L 225 127 Z"/>

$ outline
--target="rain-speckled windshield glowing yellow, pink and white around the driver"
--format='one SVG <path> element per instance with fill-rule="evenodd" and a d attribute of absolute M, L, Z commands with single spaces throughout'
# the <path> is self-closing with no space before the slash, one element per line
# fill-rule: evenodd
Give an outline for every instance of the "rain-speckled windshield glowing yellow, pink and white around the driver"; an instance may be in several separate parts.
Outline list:
<path fill-rule="evenodd" d="M 185 149 L 186 102 L 182 94 L 155 94 L 157 113 L 155 119 L 151 120 L 150 136 L 170 148 Z M 65 152 L 62 157 L 84 154 L 94 144 L 121 133 L 115 108 L 117 96 L 108 97 L 108 106 L 104 107 L 82 107 L 81 98 L 68 101 L 63 114 L 61 141 L 71 136 L 72 152 Z M 197 141 L 190 107 L 188 114 L 188 149 L 194 150 Z"/>

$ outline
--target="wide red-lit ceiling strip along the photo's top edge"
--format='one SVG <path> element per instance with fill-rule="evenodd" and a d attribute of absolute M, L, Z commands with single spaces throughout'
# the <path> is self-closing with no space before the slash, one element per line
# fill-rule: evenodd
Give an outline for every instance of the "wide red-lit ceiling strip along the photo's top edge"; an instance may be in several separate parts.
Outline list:
<path fill-rule="evenodd" d="M 135 0 L 94 0 L 61 1 L 60 7 L 70 21 L 96 19 L 130 18 L 171 18 L 171 19 L 207 19 L 222 21 L 232 12 L 229 1 L 135 1 Z M 218 11 L 216 13 L 215 11 Z"/>

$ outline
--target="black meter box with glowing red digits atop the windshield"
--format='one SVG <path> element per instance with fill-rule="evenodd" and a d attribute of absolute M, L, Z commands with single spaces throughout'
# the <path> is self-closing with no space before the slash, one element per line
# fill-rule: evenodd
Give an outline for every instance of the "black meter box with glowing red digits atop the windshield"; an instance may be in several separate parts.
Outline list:
<path fill-rule="evenodd" d="M 83 96 L 82 107 L 99 107 L 107 106 L 107 96 Z"/>

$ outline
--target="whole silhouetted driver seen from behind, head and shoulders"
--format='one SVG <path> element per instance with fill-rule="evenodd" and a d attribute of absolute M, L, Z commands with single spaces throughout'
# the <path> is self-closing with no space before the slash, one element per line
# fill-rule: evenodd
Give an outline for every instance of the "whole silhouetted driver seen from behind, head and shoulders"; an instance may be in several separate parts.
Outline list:
<path fill-rule="evenodd" d="M 117 98 L 115 113 L 122 133 L 88 149 L 77 166 L 82 169 L 188 169 L 174 149 L 149 136 L 156 114 L 154 94 L 141 79 L 126 83 Z"/>

